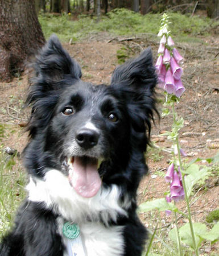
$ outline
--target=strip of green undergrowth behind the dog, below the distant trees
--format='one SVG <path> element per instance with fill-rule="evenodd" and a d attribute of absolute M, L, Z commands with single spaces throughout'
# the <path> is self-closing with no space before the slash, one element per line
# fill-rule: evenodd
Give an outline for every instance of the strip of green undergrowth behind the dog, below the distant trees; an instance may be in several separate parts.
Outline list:
<path fill-rule="evenodd" d="M 199 41 L 197 35 L 209 35 L 211 27 L 218 26 L 219 22 L 199 16 L 168 13 L 171 17 L 172 34 L 180 41 Z M 40 14 L 39 21 L 46 39 L 53 33 L 63 42 L 80 40 L 98 32 L 108 32 L 111 35 L 138 35 L 146 33 L 156 36 L 160 26 L 160 14 L 141 15 L 126 9 L 115 9 L 107 15 L 102 15 L 101 21 L 88 15 L 80 15 L 73 20 L 71 15 Z"/>

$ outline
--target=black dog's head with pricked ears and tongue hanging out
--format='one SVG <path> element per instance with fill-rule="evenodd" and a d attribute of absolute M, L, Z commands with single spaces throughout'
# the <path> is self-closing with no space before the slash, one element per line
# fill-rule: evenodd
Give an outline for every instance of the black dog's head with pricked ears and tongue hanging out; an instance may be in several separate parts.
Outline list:
<path fill-rule="evenodd" d="M 27 98 L 30 142 L 24 150 L 30 174 L 43 177 L 55 168 L 79 195 L 92 197 L 101 176 L 105 183 L 128 176 L 134 160 L 139 169 L 155 110 L 150 49 L 116 68 L 111 85 L 94 86 L 81 80 L 79 65 L 52 36 L 36 58 L 35 73 Z"/>

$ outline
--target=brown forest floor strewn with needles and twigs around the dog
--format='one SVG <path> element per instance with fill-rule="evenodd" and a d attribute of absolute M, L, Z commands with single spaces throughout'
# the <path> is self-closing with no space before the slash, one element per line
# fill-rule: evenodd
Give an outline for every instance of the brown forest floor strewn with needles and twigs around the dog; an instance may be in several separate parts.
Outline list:
<path fill-rule="evenodd" d="M 181 97 L 180 104 L 176 106 L 177 113 L 185 120 L 185 125 L 180 131 L 180 144 L 187 152 L 188 161 L 197 158 L 209 158 L 219 151 L 219 37 L 203 39 L 204 43 L 177 44 L 181 55 L 185 57 L 183 64 L 183 82 L 186 88 Z M 139 53 L 142 48 L 152 47 L 154 57 L 158 42 L 142 39 L 102 38 L 88 39 L 76 44 L 64 44 L 72 57 L 82 67 L 83 79 L 101 84 L 109 84 L 111 73 L 118 65 L 117 51 L 126 47 L 130 55 Z M 22 109 L 26 92 L 28 89 L 28 76 L 25 71 L 19 78 L 9 83 L 0 83 L 0 118 L 6 123 L 10 135 L 3 139 L 3 144 L 16 148 L 19 152 L 26 144 L 27 134 L 19 126 L 27 121 L 28 109 Z M 158 95 L 162 92 L 158 90 Z M 163 97 L 163 96 L 159 96 Z M 162 105 L 159 106 L 161 110 Z M 152 141 L 157 147 L 166 147 L 170 150 L 171 143 L 165 137 L 160 139 L 158 135 L 165 130 L 171 130 L 172 120 L 170 117 L 156 118 L 156 126 L 152 129 Z M 11 128 L 13 127 L 13 128 Z M 11 130 L 13 132 L 11 133 Z M 163 150 L 150 150 L 147 162 L 150 173 L 144 178 L 139 187 L 139 203 L 147 200 L 164 197 L 163 193 L 168 191 L 168 184 L 164 182 L 159 173 L 166 171 L 168 160 L 171 155 Z M 219 208 L 219 182 L 217 177 L 209 179 L 204 189 L 199 189 L 192 202 L 193 220 L 205 222 L 205 217 L 213 209 Z M 184 202 L 180 203 L 184 209 Z M 150 218 L 150 220 L 148 220 Z M 166 226 L 171 227 L 172 218 L 162 215 L 163 230 Z M 156 225 L 155 216 L 141 214 L 141 219 L 146 226 L 153 229 Z M 185 220 L 179 219 L 179 224 Z M 207 244 L 203 247 L 203 254 L 210 254 L 212 251 L 219 253 L 217 243 L 213 246 Z"/>

